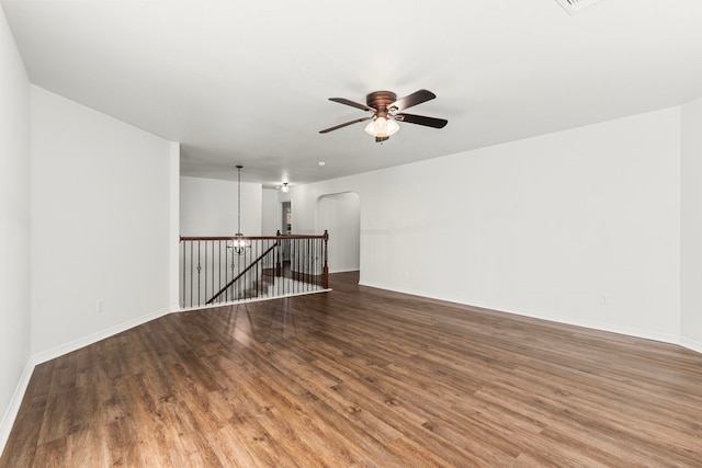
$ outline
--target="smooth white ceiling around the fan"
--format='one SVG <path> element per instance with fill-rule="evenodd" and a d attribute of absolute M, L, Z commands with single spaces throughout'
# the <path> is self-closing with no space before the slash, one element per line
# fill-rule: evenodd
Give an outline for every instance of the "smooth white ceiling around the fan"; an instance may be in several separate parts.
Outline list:
<path fill-rule="evenodd" d="M 181 173 L 291 185 L 702 96 L 702 1 L 1 0 L 33 83 L 170 140 Z M 429 89 L 378 145 L 365 102 Z M 318 165 L 325 161 L 324 168 Z"/>

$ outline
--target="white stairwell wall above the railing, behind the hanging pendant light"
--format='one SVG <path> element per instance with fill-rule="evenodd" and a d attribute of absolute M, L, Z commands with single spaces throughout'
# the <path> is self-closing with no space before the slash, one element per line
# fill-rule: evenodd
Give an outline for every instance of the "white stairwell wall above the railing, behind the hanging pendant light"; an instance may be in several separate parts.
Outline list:
<path fill-rule="evenodd" d="M 236 181 L 180 179 L 181 236 L 234 236 L 237 207 Z M 245 236 L 261 236 L 261 184 L 241 182 L 241 232 Z"/>

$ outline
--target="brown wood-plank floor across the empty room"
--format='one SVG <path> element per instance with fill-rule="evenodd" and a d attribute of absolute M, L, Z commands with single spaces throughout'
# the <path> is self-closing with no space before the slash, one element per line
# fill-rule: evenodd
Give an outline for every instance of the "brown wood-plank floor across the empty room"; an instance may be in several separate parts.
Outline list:
<path fill-rule="evenodd" d="M 0 467 L 702 466 L 701 354 L 356 282 L 37 366 Z"/>

